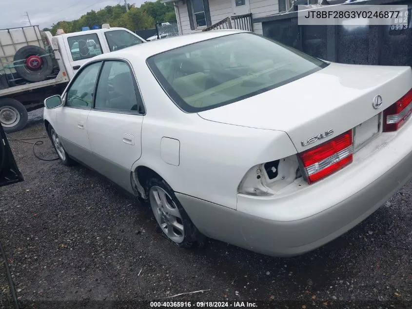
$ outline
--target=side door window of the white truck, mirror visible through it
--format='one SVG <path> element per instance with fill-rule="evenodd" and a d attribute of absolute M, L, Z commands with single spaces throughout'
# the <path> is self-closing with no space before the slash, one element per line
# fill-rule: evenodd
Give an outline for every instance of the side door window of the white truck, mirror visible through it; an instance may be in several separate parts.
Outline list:
<path fill-rule="evenodd" d="M 73 61 L 92 58 L 103 53 L 96 33 L 68 37 Z"/>

